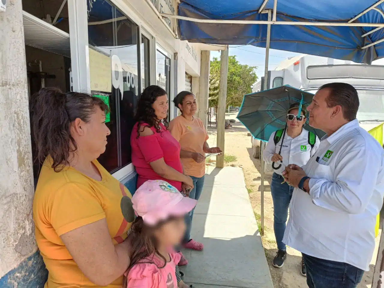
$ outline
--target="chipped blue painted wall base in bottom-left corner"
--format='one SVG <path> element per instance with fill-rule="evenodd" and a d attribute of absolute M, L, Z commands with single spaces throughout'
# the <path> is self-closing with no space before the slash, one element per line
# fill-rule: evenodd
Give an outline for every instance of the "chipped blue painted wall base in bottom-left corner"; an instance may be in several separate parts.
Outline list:
<path fill-rule="evenodd" d="M 26 258 L 19 266 L 0 278 L 1 288 L 43 288 L 48 278 L 39 251 Z"/>

